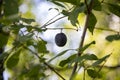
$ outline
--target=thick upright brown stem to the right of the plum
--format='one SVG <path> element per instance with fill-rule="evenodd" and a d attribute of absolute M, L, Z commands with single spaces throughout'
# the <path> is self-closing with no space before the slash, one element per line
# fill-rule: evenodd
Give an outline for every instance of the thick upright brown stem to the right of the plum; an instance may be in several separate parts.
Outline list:
<path fill-rule="evenodd" d="M 91 10 L 92 10 L 93 1 L 94 0 L 91 0 L 90 5 L 89 5 L 89 11 L 88 11 L 87 16 L 86 16 L 86 22 L 85 22 L 83 34 L 81 36 L 81 42 L 80 42 L 80 45 L 79 45 L 79 51 L 78 51 L 77 57 L 81 56 L 81 54 L 82 54 L 81 51 L 80 51 L 80 49 L 82 48 L 83 43 L 84 43 L 84 39 L 85 39 L 85 35 L 86 35 L 88 23 L 89 23 L 89 18 L 90 18 L 90 14 L 91 14 Z M 75 62 L 72 74 L 70 76 L 70 80 L 72 80 L 72 78 L 73 78 L 73 76 L 74 76 L 74 74 L 76 72 L 77 66 L 78 66 L 78 62 Z"/>

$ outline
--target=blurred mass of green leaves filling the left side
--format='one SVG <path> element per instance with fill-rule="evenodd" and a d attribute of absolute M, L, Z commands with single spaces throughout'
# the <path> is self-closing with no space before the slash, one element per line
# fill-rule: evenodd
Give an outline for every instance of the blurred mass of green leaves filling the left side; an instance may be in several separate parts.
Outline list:
<path fill-rule="evenodd" d="M 42 32 L 33 25 L 35 20 L 24 18 L 19 13 L 21 2 L 21 0 L 2 0 L 0 4 L 0 49 L 10 46 L 9 50 L 0 54 L 0 64 L 3 65 L 1 61 L 4 61 L 4 68 L 14 71 L 12 79 L 16 76 L 22 80 L 38 80 L 46 77 L 44 72 L 47 68 L 43 64 L 45 61 L 43 56 L 48 53 L 47 42 L 35 35 Z M 38 60 L 40 63 L 34 63 L 35 53 L 40 56 Z"/>

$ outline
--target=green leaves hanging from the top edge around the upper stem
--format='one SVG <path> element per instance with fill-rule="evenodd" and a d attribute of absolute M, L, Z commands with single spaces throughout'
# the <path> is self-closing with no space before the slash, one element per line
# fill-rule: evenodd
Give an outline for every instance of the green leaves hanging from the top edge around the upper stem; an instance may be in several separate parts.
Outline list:
<path fill-rule="evenodd" d="M 70 20 L 71 24 L 73 26 L 77 26 L 78 23 L 78 16 L 80 13 L 87 13 L 89 10 L 88 8 L 90 7 L 90 1 L 91 0 L 87 0 L 87 2 L 85 3 L 85 0 L 48 0 L 53 2 L 54 4 L 63 7 L 63 11 L 62 14 L 68 16 L 68 20 Z M 120 17 L 120 5 L 119 5 L 119 1 L 117 1 L 118 3 L 111 3 L 108 2 L 106 0 L 95 0 L 93 3 L 93 11 L 104 11 L 107 14 L 115 14 L 118 17 Z M 67 10 L 66 9 L 66 5 L 64 3 L 70 3 L 73 8 L 71 10 Z M 105 7 L 107 6 L 107 7 Z M 105 7 L 105 9 L 104 9 Z M 107 11 L 108 10 L 108 11 Z M 93 34 L 95 25 L 97 23 L 97 19 L 96 16 L 94 15 L 94 12 L 91 12 L 90 14 L 90 19 L 89 19 L 89 25 L 88 25 L 88 29 L 89 31 Z"/>

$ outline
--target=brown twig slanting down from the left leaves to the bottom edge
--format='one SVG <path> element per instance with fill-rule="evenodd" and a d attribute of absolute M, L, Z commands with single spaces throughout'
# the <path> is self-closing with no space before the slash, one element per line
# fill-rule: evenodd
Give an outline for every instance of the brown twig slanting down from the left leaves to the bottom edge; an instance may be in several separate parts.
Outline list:
<path fill-rule="evenodd" d="M 38 55 L 38 53 L 32 51 L 31 49 L 29 49 L 28 47 L 24 46 L 23 47 L 27 50 L 29 50 L 30 52 L 32 52 L 39 60 L 41 60 L 41 57 Z M 52 66 L 50 66 L 48 63 L 46 63 L 45 61 L 43 62 L 50 70 L 52 70 L 53 72 L 55 72 L 61 79 L 65 80 L 65 78 L 63 76 L 61 76 L 61 74 L 59 74 Z"/>

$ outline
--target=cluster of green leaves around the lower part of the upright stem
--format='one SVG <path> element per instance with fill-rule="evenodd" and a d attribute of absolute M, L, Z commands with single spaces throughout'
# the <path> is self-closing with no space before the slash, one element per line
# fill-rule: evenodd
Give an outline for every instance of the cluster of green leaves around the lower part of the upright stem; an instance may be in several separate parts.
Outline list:
<path fill-rule="evenodd" d="M 95 44 L 95 41 L 86 44 L 82 49 L 80 49 L 82 52 L 85 51 L 87 48 L 89 48 L 92 44 Z M 76 49 L 78 50 L 78 49 Z M 56 55 L 55 57 L 53 57 L 52 59 L 49 60 L 49 62 L 51 62 L 52 60 L 54 60 L 57 57 L 60 57 L 62 55 L 64 55 L 68 50 L 65 50 L 61 53 L 59 53 L 58 55 Z M 98 58 L 95 54 L 90 54 L 90 53 L 86 53 L 86 54 L 82 54 L 81 56 L 76 57 L 77 54 L 73 54 L 71 56 L 69 56 L 67 59 L 61 60 L 59 63 L 60 67 L 72 67 L 72 65 L 75 62 L 78 62 L 79 67 L 84 67 L 85 70 L 87 70 L 88 75 L 91 78 L 101 78 L 99 71 L 102 67 L 102 63 L 104 64 L 105 61 L 107 60 L 107 58 L 111 55 L 108 54 L 102 58 Z M 101 65 L 101 66 L 100 66 Z M 99 68 L 96 68 L 99 67 Z M 96 69 L 95 69 L 96 68 Z"/>

